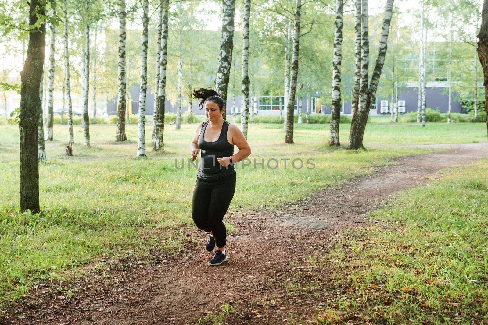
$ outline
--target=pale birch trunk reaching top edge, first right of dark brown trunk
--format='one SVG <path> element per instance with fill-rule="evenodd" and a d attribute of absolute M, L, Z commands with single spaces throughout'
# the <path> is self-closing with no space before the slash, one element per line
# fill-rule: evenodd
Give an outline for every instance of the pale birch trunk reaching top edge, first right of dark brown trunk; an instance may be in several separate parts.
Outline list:
<path fill-rule="evenodd" d="M 51 15 L 56 16 L 56 2 L 51 2 Z M 48 86 L 47 86 L 47 128 L 46 128 L 46 141 L 53 140 L 53 126 L 54 126 L 54 43 L 56 41 L 56 25 L 54 22 L 49 24 L 49 70 L 48 70 Z"/>

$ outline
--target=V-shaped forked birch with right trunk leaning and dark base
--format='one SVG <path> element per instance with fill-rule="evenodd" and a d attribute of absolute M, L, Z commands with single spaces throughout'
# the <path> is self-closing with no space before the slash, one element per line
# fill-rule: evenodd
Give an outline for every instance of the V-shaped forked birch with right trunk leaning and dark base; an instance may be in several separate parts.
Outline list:
<path fill-rule="evenodd" d="M 385 63 L 388 32 L 390 28 L 390 21 L 393 9 L 393 0 L 387 0 L 385 18 L 383 19 L 383 26 L 381 29 L 378 56 L 376 58 L 373 75 L 371 76 L 371 81 L 368 87 L 369 32 L 367 4 L 367 0 L 363 0 L 361 4 L 361 85 L 359 95 L 359 107 L 355 114 L 352 115 L 351 130 L 349 133 L 349 141 L 347 145 L 347 149 L 349 150 L 364 148 L 363 136 L 366 129 L 367 117 L 371 108 L 371 101 L 374 100 L 376 96 L 376 90 L 378 88 L 381 72 Z"/>

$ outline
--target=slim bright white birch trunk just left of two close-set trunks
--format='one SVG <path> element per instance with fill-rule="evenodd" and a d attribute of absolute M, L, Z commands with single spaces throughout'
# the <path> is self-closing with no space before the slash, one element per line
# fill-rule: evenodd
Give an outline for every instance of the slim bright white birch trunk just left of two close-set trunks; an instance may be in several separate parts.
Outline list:
<path fill-rule="evenodd" d="M 146 114 L 146 93 L 147 93 L 147 33 L 149 25 L 149 0 L 142 0 L 142 46 L 141 46 L 141 87 L 139 89 L 139 117 L 137 157 L 146 157 L 146 135 L 145 135 L 145 114 Z"/>

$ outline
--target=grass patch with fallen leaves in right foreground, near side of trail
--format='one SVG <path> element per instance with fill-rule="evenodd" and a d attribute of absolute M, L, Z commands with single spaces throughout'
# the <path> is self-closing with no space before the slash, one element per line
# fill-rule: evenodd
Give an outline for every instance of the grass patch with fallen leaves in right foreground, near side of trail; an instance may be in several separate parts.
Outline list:
<path fill-rule="evenodd" d="M 336 266 L 335 288 L 327 288 L 336 298 L 321 322 L 488 319 L 488 160 L 404 191 L 370 217 L 379 224 L 341 234 L 324 256 Z"/>

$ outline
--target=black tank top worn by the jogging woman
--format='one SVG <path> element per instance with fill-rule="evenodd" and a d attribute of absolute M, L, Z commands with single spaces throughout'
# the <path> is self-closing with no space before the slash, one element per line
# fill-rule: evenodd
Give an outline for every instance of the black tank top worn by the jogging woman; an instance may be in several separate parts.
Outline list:
<path fill-rule="evenodd" d="M 201 179 L 219 179 L 226 175 L 235 173 L 234 165 L 222 167 L 217 158 L 230 157 L 234 154 L 234 145 L 227 141 L 227 130 L 229 122 L 224 120 L 222 130 L 217 141 L 208 142 L 203 140 L 205 129 L 210 121 L 205 121 L 198 137 L 198 148 L 202 151 L 200 155 L 200 165 L 198 166 L 198 176 Z"/>

